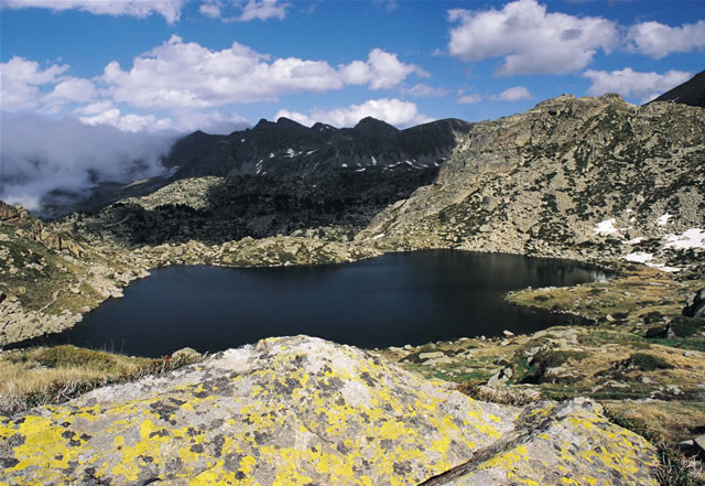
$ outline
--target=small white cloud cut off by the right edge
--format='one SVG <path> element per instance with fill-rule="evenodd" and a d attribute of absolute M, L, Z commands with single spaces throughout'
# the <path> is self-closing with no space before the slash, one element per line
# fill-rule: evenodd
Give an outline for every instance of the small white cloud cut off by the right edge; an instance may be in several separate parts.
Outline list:
<path fill-rule="evenodd" d="M 628 48 L 660 60 L 674 52 L 705 48 L 705 20 L 672 28 L 659 22 L 642 22 L 629 28 Z"/>

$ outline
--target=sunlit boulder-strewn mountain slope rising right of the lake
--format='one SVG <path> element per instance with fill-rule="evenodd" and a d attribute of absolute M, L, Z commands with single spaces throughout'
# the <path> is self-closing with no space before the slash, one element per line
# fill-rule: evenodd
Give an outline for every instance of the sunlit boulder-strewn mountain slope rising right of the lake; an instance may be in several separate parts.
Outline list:
<path fill-rule="evenodd" d="M 476 125 L 433 185 L 358 239 L 692 263 L 705 246 L 704 160 L 701 108 L 563 96 Z"/>

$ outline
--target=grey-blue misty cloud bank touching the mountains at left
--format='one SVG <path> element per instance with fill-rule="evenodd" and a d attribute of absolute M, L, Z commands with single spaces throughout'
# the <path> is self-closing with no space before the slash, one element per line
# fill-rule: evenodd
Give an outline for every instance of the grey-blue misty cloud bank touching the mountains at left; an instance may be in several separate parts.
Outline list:
<path fill-rule="evenodd" d="M 30 209 L 50 191 L 79 192 L 100 181 L 129 182 L 163 171 L 176 133 L 129 133 L 75 118 L 2 114 L 0 198 Z M 40 136 L 41 134 L 41 136 Z"/>

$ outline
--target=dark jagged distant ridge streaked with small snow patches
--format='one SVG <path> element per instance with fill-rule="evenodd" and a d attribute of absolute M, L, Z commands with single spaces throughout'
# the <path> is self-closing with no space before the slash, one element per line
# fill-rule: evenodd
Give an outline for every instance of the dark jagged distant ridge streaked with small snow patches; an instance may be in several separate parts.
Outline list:
<path fill-rule="evenodd" d="M 229 136 L 192 133 L 180 140 L 164 161 L 178 168 L 174 179 L 207 175 L 316 177 L 339 170 L 435 170 L 443 164 L 458 133 L 473 125 L 438 120 L 420 128 L 398 128 L 367 117 L 354 128 L 316 123 L 305 127 L 289 118 L 260 120 Z"/>

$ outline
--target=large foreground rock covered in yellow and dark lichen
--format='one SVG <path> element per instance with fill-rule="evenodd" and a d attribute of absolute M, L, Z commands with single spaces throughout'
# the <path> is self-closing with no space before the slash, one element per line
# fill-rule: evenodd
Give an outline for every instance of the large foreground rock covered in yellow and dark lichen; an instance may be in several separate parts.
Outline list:
<path fill-rule="evenodd" d="M 0 466 L 0 485 L 658 484 L 653 447 L 588 400 L 474 401 L 305 336 L 6 418 Z"/>

